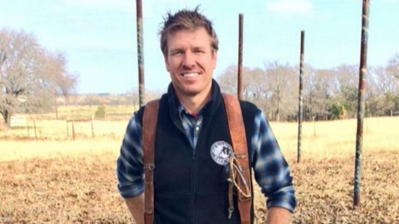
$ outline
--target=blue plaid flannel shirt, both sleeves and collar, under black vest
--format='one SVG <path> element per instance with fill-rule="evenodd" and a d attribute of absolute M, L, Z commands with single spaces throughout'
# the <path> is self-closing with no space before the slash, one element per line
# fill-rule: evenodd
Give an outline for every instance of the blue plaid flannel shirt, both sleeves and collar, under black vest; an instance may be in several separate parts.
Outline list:
<path fill-rule="evenodd" d="M 191 115 L 179 105 L 180 118 L 194 149 L 201 131 L 203 111 Z M 136 113 L 135 113 L 136 115 Z M 143 150 L 141 126 L 133 116 L 126 128 L 117 161 L 118 190 L 122 197 L 134 197 L 144 192 Z M 251 139 L 251 152 L 255 180 L 268 198 L 267 207 L 282 207 L 294 211 L 297 201 L 286 163 L 262 110 L 258 109 Z"/>

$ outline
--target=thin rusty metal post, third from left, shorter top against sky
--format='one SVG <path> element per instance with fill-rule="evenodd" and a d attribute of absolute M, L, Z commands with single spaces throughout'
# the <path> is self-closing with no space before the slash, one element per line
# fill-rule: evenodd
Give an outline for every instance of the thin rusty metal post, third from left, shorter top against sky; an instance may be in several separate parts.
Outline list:
<path fill-rule="evenodd" d="M 301 161 L 301 141 L 302 141 L 302 119 L 303 119 L 303 97 L 302 97 L 302 77 L 303 77 L 303 59 L 304 59 L 304 43 L 305 42 L 305 31 L 301 31 L 301 54 L 300 54 L 300 62 L 299 62 L 299 106 L 298 106 L 298 156 L 297 163 Z"/>

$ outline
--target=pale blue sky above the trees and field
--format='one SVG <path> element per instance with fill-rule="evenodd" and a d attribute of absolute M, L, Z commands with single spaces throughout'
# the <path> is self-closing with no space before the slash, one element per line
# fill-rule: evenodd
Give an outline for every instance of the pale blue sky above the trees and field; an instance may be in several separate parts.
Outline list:
<path fill-rule="evenodd" d="M 265 62 L 318 69 L 359 64 L 362 0 L 142 0 L 145 89 L 165 91 L 158 31 L 163 17 L 180 9 L 201 10 L 219 38 L 218 77 L 238 61 L 238 16 L 243 14 L 243 66 Z M 77 74 L 76 92 L 124 94 L 138 89 L 135 0 L 0 0 L 0 30 L 23 30 L 49 51 L 63 52 Z M 371 0 L 368 66 L 386 65 L 399 53 L 399 0 Z M 299 73 L 299 72 L 298 72 Z M 245 78 L 245 77 L 243 77 Z"/>

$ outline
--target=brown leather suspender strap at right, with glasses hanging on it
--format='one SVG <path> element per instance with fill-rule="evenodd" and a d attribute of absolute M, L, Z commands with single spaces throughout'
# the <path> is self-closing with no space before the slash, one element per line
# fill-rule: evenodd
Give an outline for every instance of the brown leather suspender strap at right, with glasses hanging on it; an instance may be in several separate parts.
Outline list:
<path fill-rule="evenodd" d="M 247 138 L 245 134 L 245 126 L 242 119 L 241 108 L 238 98 L 235 95 L 223 94 L 227 120 L 229 124 L 230 137 L 233 144 L 233 151 L 239 166 L 242 168 L 242 174 L 249 189 L 251 188 L 251 175 L 248 161 Z M 245 189 L 246 183 L 237 176 L 237 183 L 241 189 Z M 246 197 L 238 192 L 238 211 L 241 223 L 249 224 L 251 222 L 251 196 Z M 250 194 L 251 195 L 251 194 Z"/>

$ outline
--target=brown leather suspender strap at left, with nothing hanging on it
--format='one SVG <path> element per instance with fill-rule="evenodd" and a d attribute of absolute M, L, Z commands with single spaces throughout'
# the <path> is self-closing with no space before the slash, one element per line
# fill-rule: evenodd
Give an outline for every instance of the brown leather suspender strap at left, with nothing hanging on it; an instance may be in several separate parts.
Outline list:
<path fill-rule="evenodd" d="M 143 163 L 144 163 L 144 220 L 154 223 L 154 145 L 157 127 L 159 100 L 146 104 L 143 115 Z"/>

